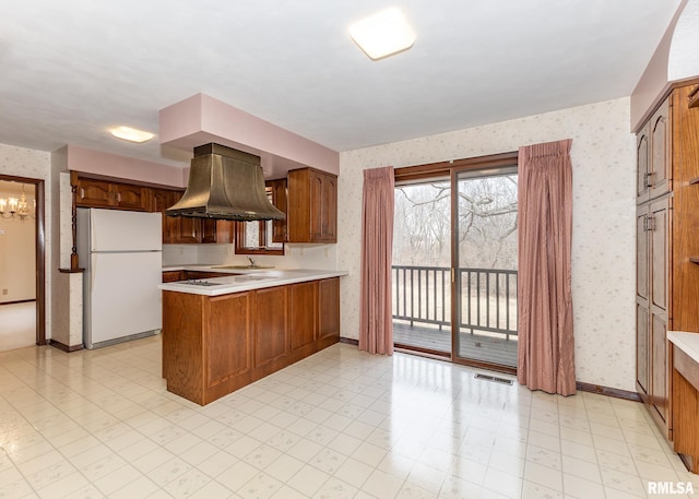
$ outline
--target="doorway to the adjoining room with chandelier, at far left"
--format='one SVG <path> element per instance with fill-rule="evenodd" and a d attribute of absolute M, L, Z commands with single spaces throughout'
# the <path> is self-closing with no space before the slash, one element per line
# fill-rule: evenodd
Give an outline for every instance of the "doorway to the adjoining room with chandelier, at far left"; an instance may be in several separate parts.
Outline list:
<path fill-rule="evenodd" d="M 0 352 L 46 343 L 44 181 L 0 175 Z"/>

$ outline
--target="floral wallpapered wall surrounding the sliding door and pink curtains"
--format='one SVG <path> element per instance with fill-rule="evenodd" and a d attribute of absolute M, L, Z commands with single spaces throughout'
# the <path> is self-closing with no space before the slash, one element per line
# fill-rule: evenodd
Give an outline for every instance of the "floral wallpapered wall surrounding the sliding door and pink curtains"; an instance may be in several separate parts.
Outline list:
<path fill-rule="evenodd" d="M 358 337 L 362 170 L 517 151 L 572 139 L 572 293 L 578 381 L 635 391 L 635 138 L 621 98 L 350 151 L 340 156 L 342 335 Z"/>

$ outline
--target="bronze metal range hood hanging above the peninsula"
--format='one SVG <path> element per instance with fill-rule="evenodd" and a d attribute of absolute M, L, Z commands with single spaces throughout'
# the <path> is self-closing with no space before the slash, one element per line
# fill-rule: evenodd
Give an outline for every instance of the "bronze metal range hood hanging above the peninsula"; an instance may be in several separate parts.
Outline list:
<path fill-rule="evenodd" d="M 260 157 L 214 143 L 194 147 L 187 190 L 165 214 L 227 221 L 285 217 L 266 195 Z"/>

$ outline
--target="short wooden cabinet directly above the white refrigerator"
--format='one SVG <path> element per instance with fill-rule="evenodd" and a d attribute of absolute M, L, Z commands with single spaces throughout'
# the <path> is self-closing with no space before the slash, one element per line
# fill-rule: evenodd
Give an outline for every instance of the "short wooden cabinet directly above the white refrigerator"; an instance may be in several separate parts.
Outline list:
<path fill-rule="evenodd" d="M 110 182 L 92 178 L 78 179 L 79 206 L 112 207 L 119 210 L 151 210 L 152 190 L 147 187 Z"/>

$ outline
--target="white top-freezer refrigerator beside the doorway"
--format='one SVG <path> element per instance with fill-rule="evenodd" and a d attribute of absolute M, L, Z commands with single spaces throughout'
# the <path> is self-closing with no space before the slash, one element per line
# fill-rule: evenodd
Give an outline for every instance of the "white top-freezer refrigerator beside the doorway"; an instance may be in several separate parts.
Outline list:
<path fill-rule="evenodd" d="M 159 213 L 78 210 L 86 348 L 161 331 L 162 223 Z"/>

